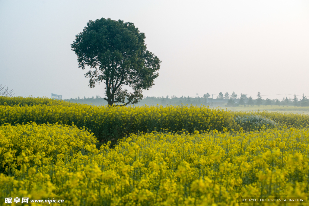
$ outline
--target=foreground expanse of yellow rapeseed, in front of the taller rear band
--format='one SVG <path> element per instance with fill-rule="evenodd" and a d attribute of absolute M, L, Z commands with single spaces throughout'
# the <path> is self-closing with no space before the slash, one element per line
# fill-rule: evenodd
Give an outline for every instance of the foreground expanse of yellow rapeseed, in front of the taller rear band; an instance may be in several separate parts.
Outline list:
<path fill-rule="evenodd" d="M 96 149 L 85 129 L 32 123 L 1 126 L 0 140 L 3 205 L 4 197 L 239 205 L 240 197 L 308 196 L 308 129 L 130 134 Z"/>

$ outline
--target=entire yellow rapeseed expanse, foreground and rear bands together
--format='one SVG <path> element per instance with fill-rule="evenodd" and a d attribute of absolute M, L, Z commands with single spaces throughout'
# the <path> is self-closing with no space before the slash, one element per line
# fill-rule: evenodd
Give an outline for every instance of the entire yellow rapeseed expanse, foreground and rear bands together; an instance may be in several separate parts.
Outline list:
<path fill-rule="evenodd" d="M 7 197 L 111 206 L 308 197 L 308 116 L 30 103 L 0 106 L 0 205 Z M 235 119 L 248 115 L 276 124 L 243 130 Z M 98 134 L 122 138 L 99 147 Z"/>

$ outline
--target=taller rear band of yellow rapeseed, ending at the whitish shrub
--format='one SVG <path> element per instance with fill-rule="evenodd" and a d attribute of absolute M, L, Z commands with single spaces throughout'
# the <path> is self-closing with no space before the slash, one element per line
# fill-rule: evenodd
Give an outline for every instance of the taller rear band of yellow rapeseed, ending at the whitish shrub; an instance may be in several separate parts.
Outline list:
<path fill-rule="evenodd" d="M 53 100 L 57 101 L 57 100 Z M 236 128 L 233 114 L 221 109 L 208 107 L 108 107 L 87 104 L 70 103 L 66 105 L 39 104 L 28 106 L 0 105 L 0 125 L 12 125 L 27 122 L 37 124 L 68 124 L 86 127 L 105 143 L 112 139 L 124 137 L 124 134 L 147 130 L 160 131 L 161 128 L 170 131 L 189 132 L 198 130 L 213 130 Z"/>

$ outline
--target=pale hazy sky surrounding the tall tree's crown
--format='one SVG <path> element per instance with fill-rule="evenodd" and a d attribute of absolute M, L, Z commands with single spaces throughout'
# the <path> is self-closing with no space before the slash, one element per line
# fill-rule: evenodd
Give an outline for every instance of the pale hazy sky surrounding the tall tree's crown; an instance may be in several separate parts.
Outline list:
<path fill-rule="evenodd" d="M 87 86 L 70 46 L 102 17 L 133 22 L 162 61 L 145 97 L 309 95 L 307 0 L 0 0 L 0 84 L 17 96 L 103 97 L 103 84 Z"/>

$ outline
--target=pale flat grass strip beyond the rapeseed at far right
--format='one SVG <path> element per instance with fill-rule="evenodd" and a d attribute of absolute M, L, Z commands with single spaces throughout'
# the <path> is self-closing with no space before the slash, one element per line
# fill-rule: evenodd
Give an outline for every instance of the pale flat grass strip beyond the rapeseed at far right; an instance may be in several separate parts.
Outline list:
<path fill-rule="evenodd" d="M 282 112 L 282 113 L 294 113 L 294 114 L 306 114 L 309 115 L 309 107 L 295 107 L 295 106 L 278 106 L 278 105 L 261 105 L 261 106 L 246 106 L 239 105 L 239 107 L 222 107 L 228 111 L 269 111 L 269 112 Z"/>

